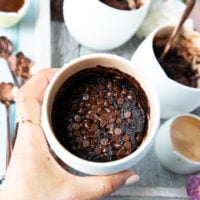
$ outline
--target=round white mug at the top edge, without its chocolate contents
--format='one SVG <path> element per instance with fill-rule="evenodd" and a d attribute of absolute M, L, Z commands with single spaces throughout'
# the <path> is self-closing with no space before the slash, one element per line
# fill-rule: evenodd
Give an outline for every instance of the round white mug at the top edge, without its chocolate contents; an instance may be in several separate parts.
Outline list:
<path fill-rule="evenodd" d="M 136 10 L 119 10 L 99 0 L 64 0 L 63 15 L 71 35 L 86 47 L 110 50 L 128 41 L 147 14 L 151 0 Z"/>

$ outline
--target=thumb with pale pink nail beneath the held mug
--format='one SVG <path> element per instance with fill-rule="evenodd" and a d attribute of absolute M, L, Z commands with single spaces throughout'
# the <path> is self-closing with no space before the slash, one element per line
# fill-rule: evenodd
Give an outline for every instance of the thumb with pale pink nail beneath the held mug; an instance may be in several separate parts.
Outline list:
<path fill-rule="evenodd" d="M 107 196 L 125 184 L 134 183 L 139 180 L 139 176 L 131 170 L 125 170 L 107 176 L 79 177 L 77 179 L 79 183 L 77 187 L 82 188 L 79 195 L 91 200 Z"/>

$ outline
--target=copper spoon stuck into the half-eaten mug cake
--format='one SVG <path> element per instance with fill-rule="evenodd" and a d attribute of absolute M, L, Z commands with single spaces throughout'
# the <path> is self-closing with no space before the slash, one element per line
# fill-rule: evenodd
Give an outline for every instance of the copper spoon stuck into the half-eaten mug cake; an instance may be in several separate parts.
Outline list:
<path fill-rule="evenodd" d="M 172 42 L 174 41 L 174 39 L 178 35 L 179 31 L 181 30 L 181 27 L 184 24 L 185 20 L 190 15 L 192 9 L 194 8 L 194 5 L 195 5 L 195 0 L 188 0 L 187 1 L 187 4 L 186 4 L 185 10 L 184 10 L 184 12 L 182 14 L 182 17 L 181 17 L 179 23 L 177 24 L 177 26 L 175 26 L 175 28 L 174 28 L 174 30 L 173 30 L 168 42 L 166 43 L 166 45 L 164 47 L 164 50 L 163 50 L 163 52 L 162 52 L 162 54 L 160 56 L 160 59 L 163 59 L 165 57 L 165 55 L 168 53 Z"/>

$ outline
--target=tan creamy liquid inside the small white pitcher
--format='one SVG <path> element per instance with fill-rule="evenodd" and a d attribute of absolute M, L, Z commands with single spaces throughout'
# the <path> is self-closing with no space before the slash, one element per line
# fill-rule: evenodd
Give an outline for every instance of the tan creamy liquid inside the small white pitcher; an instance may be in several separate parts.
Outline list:
<path fill-rule="evenodd" d="M 178 117 L 170 127 L 175 151 L 189 160 L 200 162 L 200 120 L 194 117 Z"/>

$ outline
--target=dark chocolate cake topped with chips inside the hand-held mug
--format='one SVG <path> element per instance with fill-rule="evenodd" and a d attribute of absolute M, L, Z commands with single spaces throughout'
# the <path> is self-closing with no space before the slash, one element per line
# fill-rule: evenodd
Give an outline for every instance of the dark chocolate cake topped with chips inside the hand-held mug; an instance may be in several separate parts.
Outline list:
<path fill-rule="evenodd" d="M 139 83 L 103 66 L 70 77 L 58 90 L 52 110 L 53 129 L 61 144 L 95 162 L 134 152 L 146 134 L 148 118 L 148 100 Z"/>

